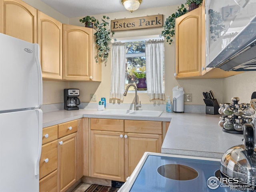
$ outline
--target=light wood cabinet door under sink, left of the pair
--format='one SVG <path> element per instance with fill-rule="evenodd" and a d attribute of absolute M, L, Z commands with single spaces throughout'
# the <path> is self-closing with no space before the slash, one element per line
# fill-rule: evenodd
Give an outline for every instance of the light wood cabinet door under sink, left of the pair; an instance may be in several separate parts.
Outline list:
<path fill-rule="evenodd" d="M 124 132 L 91 130 L 90 176 L 124 181 Z"/>

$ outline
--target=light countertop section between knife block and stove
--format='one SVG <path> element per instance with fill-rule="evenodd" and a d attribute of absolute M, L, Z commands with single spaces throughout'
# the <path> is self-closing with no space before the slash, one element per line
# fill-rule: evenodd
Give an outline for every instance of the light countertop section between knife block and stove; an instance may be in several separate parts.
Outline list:
<path fill-rule="evenodd" d="M 242 144 L 243 135 L 222 131 L 220 115 L 172 113 L 162 153 L 221 158 L 230 147 Z"/>

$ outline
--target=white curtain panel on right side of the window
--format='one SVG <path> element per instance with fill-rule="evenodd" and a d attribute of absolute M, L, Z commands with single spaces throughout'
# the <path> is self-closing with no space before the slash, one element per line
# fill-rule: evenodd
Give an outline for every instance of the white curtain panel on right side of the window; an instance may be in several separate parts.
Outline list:
<path fill-rule="evenodd" d="M 150 101 L 165 100 L 163 84 L 164 40 L 148 40 L 145 46 L 148 97 Z"/>

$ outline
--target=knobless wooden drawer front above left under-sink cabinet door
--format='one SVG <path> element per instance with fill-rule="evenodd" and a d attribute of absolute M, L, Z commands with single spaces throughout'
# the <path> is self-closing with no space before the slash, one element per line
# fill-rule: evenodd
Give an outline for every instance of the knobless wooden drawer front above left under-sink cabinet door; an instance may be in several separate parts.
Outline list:
<path fill-rule="evenodd" d="M 124 131 L 124 120 L 91 118 L 90 128 L 100 131 Z"/>

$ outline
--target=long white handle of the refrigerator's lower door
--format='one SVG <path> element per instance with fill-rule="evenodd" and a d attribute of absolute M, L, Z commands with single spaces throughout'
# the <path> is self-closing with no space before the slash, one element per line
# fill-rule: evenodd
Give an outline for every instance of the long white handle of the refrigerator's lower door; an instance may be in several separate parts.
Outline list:
<path fill-rule="evenodd" d="M 35 109 L 35 110 L 38 112 L 38 123 L 39 123 L 38 154 L 37 154 L 36 170 L 35 170 L 35 174 L 37 176 L 39 175 L 39 163 L 40 163 L 41 152 L 42 152 L 43 112 L 41 109 Z"/>

